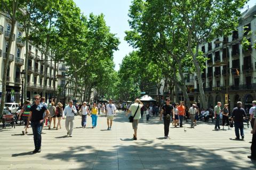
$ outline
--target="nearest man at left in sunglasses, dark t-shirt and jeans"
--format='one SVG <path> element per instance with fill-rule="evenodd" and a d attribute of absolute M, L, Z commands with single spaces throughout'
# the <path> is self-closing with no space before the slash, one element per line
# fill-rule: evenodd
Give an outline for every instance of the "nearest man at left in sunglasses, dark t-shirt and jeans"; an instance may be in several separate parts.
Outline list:
<path fill-rule="evenodd" d="M 41 152 L 41 142 L 42 142 L 42 128 L 44 120 L 49 117 L 50 112 L 47 107 L 40 103 L 41 96 L 36 94 L 35 95 L 35 104 L 30 107 L 29 116 L 28 116 L 28 123 L 27 128 L 29 125 L 29 121 L 31 120 L 31 127 L 33 130 L 34 135 L 34 144 L 35 150 L 33 153 Z M 45 112 L 45 115 L 44 115 Z"/>

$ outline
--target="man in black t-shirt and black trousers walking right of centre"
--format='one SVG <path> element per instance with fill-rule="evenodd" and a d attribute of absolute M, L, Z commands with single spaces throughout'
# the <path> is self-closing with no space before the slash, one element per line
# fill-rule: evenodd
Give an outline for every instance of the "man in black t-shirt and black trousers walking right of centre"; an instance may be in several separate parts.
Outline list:
<path fill-rule="evenodd" d="M 170 98 L 165 99 L 166 104 L 164 104 L 164 106 L 162 107 L 162 111 L 160 114 L 160 120 L 162 120 L 162 115 L 164 115 L 164 138 L 165 139 L 168 138 L 171 116 L 174 119 L 174 110 L 170 102 L 171 102 Z"/>

